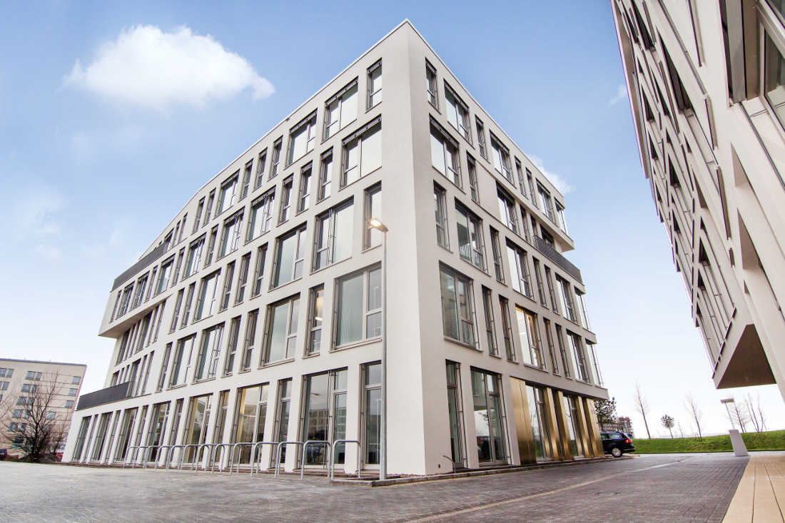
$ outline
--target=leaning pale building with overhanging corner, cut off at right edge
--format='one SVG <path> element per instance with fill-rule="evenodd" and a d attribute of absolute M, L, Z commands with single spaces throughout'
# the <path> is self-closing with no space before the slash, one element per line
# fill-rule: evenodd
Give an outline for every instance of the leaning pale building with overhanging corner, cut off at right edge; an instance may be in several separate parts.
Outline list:
<path fill-rule="evenodd" d="M 785 18 L 612 0 L 644 173 L 719 389 L 785 397 Z"/>

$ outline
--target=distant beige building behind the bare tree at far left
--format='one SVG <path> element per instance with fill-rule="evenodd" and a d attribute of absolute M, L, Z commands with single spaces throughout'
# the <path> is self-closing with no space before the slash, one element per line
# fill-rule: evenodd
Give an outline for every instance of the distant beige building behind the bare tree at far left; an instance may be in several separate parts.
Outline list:
<path fill-rule="evenodd" d="M 20 444 L 49 427 L 53 452 L 63 452 L 86 365 L 0 359 L 0 448 L 23 455 Z"/>

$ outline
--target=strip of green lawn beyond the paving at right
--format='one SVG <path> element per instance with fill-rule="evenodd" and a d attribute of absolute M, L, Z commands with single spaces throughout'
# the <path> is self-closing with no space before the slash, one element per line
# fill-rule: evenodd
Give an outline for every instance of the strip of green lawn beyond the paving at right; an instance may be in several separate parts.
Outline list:
<path fill-rule="evenodd" d="M 741 435 L 747 450 L 785 450 L 785 430 L 772 432 L 743 433 Z M 703 441 L 697 437 L 670 437 L 652 440 L 633 439 L 639 454 L 658 452 L 725 452 L 732 451 L 731 437 L 708 436 Z"/>

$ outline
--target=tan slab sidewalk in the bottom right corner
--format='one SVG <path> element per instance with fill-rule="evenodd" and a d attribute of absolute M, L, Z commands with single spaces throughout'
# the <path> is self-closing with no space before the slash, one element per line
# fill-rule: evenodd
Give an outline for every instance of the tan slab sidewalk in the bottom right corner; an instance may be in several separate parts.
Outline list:
<path fill-rule="evenodd" d="M 785 452 L 751 452 L 723 523 L 785 521 Z"/>

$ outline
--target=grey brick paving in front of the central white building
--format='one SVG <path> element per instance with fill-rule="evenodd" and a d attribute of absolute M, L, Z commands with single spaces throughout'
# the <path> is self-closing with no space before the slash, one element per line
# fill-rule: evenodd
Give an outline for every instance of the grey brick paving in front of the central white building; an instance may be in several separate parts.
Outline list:
<path fill-rule="evenodd" d="M 0 521 L 722 521 L 747 458 L 652 455 L 383 488 L 0 462 Z"/>

